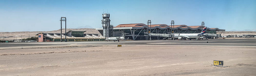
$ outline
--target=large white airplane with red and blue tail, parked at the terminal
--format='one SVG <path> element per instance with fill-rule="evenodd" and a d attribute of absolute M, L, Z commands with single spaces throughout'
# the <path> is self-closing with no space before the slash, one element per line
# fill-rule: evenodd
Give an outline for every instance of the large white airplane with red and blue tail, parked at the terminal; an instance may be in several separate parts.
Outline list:
<path fill-rule="evenodd" d="M 179 33 L 179 34 L 174 34 L 174 38 L 182 40 L 182 39 L 196 39 L 197 36 L 203 35 L 206 32 L 206 28 L 202 30 L 201 33 Z"/>

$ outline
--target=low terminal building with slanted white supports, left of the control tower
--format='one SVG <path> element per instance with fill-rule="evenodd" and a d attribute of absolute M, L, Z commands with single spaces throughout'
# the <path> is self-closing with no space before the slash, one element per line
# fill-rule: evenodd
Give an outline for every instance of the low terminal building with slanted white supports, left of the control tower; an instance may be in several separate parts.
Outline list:
<path fill-rule="evenodd" d="M 67 41 L 105 41 L 105 37 L 99 34 L 85 34 L 86 31 L 68 31 Z M 65 33 L 38 33 L 38 42 L 65 41 Z"/>

